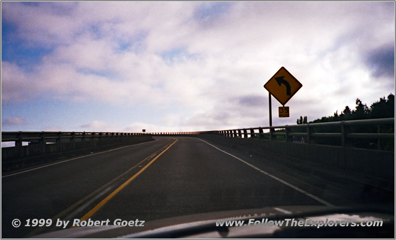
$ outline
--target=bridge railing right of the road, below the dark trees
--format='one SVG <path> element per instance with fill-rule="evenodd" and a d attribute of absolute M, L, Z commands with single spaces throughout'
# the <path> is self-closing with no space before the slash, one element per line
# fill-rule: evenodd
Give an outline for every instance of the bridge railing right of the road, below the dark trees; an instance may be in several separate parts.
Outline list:
<path fill-rule="evenodd" d="M 341 147 L 362 147 L 365 145 L 364 141 L 366 141 L 366 145 L 375 145 L 372 147 L 380 149 L 380 140 L 394 141 L 394 125 L 395 118 L 387 118 L 251 127 L 205 131 L 202 133 L 223 135 L 225 137 L 258 138 L 270 141 L 338 145 Z M 377 143 L 373 143 L 373 140 L 377 140 Z M 391 148 L 393 149 L 393 147 Z"/>

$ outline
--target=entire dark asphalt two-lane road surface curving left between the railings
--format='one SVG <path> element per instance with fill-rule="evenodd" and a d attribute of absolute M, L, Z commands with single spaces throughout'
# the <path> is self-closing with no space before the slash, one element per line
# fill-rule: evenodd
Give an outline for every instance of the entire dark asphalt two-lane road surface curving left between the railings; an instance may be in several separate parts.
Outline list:
<path fill-rule="evenodd" d="M 268 167 L 259 158 L 189 137 L 65 159 L 1 178 L 1 238 L 59 230 L 57 219 L 151 221 L 222 210 L 342 205 L 338 189 Z M 19 219 L 21 226 L 11 225 Z M 53 219 L 51 227 L 27 227 Z M 67 228 L 71 226 L 68 223 Z"/>

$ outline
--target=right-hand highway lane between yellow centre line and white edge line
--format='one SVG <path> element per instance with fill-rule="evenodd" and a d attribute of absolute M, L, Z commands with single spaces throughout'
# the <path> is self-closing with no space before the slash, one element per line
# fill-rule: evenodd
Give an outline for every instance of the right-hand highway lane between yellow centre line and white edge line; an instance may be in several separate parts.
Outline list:
<path fill-rule="evenodd" d="M 155 220 L 212 211 L 323 205 L 196 138 L 178 137 L 144 174 L 92 216 Z M 259 213 L 258 213 L 259 214 Z"/>

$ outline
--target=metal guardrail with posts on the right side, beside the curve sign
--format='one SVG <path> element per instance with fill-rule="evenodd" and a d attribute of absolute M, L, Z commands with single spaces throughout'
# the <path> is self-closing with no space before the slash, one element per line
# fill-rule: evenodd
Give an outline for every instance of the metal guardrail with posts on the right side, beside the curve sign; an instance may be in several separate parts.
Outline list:
<path fill-rule="evenodd" d="M 361 133 L 352 132 L 353 127 L 359 125 L 371 125 L 378 128 L 377 133 Z M 380 126 L 392 125 L 393 133 L 380 133 Z M 267 127 L 251 127 L 230 130 L 214 130 L 203 133 L 223 135 L 226 137 L 241 137 L 241 138 L 255 138 L 259 139 L 269 138 L 269 140 L 277 140 L 276 136 L 283 136 L 284 141 L 293 142 L 294 137 L 303 137 L 307 144 L 316 144 L 316 138 L 341 138 L 342 147 L 352 147 L 353 139 L 377 139 L 379 140 L 395 140 L 395 118 L 387 119 L 370 119 L 370 120 L 344 120 L 335 122 L 320 122 L 307 123 L 297 125 L 282 125 L 282 126 L 267 126 Z M 315 132 L 318 127 L 339 127 L 339 132 Z M 268 132 L 264 132 L 268 129 Z M 277 130 L 284 130 L 284 132 L 276 132 Z M 302 129 L 303 132 L 293 132 L 292 129 Z M 378 144 L 379 147 L 379 144 Z"/>

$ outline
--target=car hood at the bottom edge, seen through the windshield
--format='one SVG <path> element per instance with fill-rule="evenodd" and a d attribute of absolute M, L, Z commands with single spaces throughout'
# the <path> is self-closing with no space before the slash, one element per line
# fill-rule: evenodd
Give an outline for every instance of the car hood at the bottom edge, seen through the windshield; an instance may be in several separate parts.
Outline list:
<path fill-rule="evenodd" d="M 389 210 L 391 209 L 391 210 Z M 247 226 L 248 221 L 260 221 L 260 225 Z M 264 219 L 264 220 L 263 220 Z M 329 207 L 329 206 L 275 206 L 254 209 L 241 209 L 231 211 L 219 211 L 209 213 L 199 213 L 185 215 L 160 220 L 146 221 L 144 227 L 122 227 L 122 226 L 100 226 L 100 227 L 78 227 L 65 230 L 58 230 L 44 233 L 33 238 L 298 238 L 298 233 L 304 232 L 304 238 L 318 237 L 327 238 L 339 233 L 345 237 L 345 231 L 351 231 L 349 227 L 334 228 L 316 226 L 311 227 L 290 227 L 290 226 L 269 226 L 262 225 L 271 220 L 295 219 L 304 221 L 383 221 L 382 227 L 365 227 L 352 229 L 353 233 L 361 230 L 369 230 L 369 233 L 383 237 L 394 238 L 394 209 L 384 207 Z M 225 221 L 244 220 L 244 226 L 225 226 Z M 251 220 L 250 220 L 251 221 Z M 216 222 L 224 222 L 223 226 L 216 226 Z M 112 222 L 110 222 L 112 223 Z M 253 222 L 251 222 L 253 223 Z M 290 224 L 289 224 L 290 225 Z M 303 231 L 302 231 L 303 230 Z M 308 231 L 309 230 L 309 231 Z M 297 231 L 297 233 L 295 233 Z M 379 231 L 379 232 L 378 232 Z M 386 233 L 385 233 L 385 232 Z M 364 232 L 364 231 L 363 231 Z M 287 235 L 284 235 L 286 233 Z M 332 233 L 333 235 L 328 235 Z M 289 236 L 291 234 L 291 236 Z M 352 235 L 351 238 L 365 238 L 363 236 Z M 376 237 L 376 238 L 377 238 Z"/>

